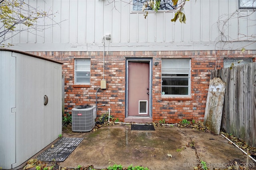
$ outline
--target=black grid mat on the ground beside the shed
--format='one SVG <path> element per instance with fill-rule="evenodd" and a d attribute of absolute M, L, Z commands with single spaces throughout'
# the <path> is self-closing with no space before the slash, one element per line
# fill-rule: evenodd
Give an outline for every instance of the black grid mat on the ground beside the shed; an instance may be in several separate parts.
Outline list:
<path fill-rule="evenodd" d="M 36 158 L 41 161 L 55 160 L 63 162 L 83 139 L 62 137 L 54 143 L 53 147 L 48 148 Z"/>

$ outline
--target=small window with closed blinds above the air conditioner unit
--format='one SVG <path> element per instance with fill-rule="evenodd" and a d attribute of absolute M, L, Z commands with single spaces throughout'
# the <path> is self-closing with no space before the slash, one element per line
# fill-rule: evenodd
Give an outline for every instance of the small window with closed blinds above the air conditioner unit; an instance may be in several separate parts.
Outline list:
<path fill-rule="evenodd" d="M 90 59 L 75 59 L 75 84 L 90 84 Z"/>

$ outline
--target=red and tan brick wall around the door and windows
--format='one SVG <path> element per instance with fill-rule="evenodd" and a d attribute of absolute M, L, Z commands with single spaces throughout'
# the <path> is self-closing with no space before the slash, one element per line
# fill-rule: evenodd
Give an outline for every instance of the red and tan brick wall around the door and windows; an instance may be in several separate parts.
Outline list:
<path fill-rule="evenodd" d="M 78 105 L 96 104 L 96 91 L 103 79 L 103 52 L 31 52 L 60 61 L 65 75 L 65 112 Z M 105 52 L 104 78 L 106 90 L 98 90 L 97 114 L 111 108 L 111 115 L 120 121 L 125 118 L 125 61 L 129 57 L 152 58 L 158 66 L 152 67 L 152 119 L 165 119 L 176 123 L 182 119 L 203 121 L 210 80 L 210 70 L 220 69 L 223 58 L 256 57 L 256 51 L 121 51 Z M 191 97 L 170 98 L 161 96 L 161 61 L 168 58 L 191 59 Z M 74 59 L 90 59 L 90 85 L 74 85 Z"/>

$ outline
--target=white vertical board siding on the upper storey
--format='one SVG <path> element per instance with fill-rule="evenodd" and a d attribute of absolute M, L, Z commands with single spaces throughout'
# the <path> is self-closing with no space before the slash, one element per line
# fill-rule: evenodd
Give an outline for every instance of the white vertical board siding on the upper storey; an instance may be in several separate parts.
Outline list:
<path fill-rule="evenodd" d="M 144 19 L 144 12 L 132 12 L 132 5 L 126 3 L 130 0 L 112 4 L 107 0 L 27 1 L 58 12 L 54 21 L 62 22 L 36 35 L 25 31 L 17 35 L 12 39 L 17 46 L 12 48 L 23 51 L 103 51 L 106 34 L 111 34 L 111 40 L 105 41 L 108 51 L 214 50 L 218 41 L 248 40 L 244 35 L 256 35 L 256 13 L 238 10 L 238 0 L 187 1 L 186 24 L 171 22 L 173 11 L 149 12 Z M 232 43 L 231 48 L 250 43 Z M 256 49 L 256 43 L 246 49 Z"/>

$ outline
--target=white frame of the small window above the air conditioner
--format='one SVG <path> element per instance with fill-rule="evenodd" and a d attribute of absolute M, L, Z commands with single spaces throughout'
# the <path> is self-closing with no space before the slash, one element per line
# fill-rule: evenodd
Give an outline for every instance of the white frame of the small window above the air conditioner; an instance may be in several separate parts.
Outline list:
<path fill-rule="evenodd" d="M 76 62 L 77 61 L 82 61 L 82 60 L 84 60 L 84 61 L 90 61 L 90 59 L 75 59 L 75 61 L 74 61 L 74 84 L 90 84 L 90 77 L 91 77 L 91 70 L 90 70 L 90 68 L 91 68 L 91 61 L 90 61 L 90 64 L 76 64 Z M 87 66 L 89 69 L 84 69 L 84 70 L 77 70 L 76 69 L 76 67 L 77 66 Z M 77 78 L 78 78 L 78 76 L 77 76 L 77 73 L 78 72 L 89 72 L 89 76 L 88 75 L 84 75 L 84 76 L 82 76 L 82 77 L 89 77 L 89 82 L 78 82 L 78 80 L 77 80 Z"/>

